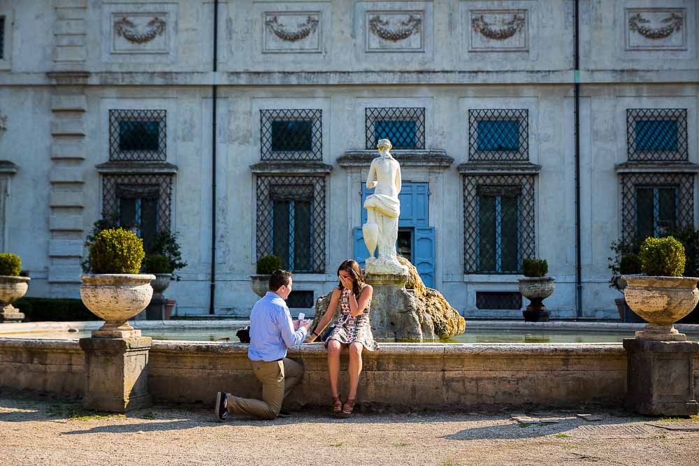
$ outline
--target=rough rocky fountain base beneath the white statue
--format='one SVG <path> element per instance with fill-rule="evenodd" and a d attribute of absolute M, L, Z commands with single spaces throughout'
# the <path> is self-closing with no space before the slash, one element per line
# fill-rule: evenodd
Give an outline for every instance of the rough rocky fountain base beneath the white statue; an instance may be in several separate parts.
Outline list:
<path fill-rule="evenodd" d="M 461 335 L 466 321 L 449 305 L 442 293 L 427 288 L 412 263 L 398 258 L 408 267 L 408 275 L 367 275 L 373 286 L 371 330 L 379 340 L 422 342 Z M 317 324 L 330 304 L 331 293 L 318 298 L 315 305 Z M 339 312 L 339 311 L 338 311 Z M 336 321 L 337 314 L 333 318 Z"/>

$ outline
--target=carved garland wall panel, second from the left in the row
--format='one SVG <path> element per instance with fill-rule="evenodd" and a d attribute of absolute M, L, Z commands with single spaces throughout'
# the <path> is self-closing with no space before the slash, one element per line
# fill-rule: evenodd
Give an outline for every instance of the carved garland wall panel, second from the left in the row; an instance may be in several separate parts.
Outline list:
<path fill-rule="evenodd" d="M 268 11 L 263 23 L 263 53 L 321 52 L 319 11 Z"/>

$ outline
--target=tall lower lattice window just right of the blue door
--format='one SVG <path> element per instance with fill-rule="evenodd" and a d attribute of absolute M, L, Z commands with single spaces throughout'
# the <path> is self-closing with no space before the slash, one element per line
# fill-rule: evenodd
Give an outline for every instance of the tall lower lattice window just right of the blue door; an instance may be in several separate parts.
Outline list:
<path fill-rule="evenodd" d="M 464 271 L 516 274 L 535 255 L 533 175 L 463 177 Z"/>

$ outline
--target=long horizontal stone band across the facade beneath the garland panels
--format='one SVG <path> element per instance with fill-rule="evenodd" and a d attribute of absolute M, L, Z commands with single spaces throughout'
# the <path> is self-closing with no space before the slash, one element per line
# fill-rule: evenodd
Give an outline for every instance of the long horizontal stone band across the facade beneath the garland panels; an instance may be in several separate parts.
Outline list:
<path fill-rule="evenodd" d="M 699 82 L 699 70 L 675 69 L 583 69 L 579 73 L 581 84 L 626 83 L 663 84 L 673 82 Z M 113 86 L 275 86 L 275 85 L 510 85 L 549 84 L 570 85 L 575 82 L 571 70 L 536 71 L 66 71 L 48 73 L 0 73 L 0 85 L 113 85 Z"/>

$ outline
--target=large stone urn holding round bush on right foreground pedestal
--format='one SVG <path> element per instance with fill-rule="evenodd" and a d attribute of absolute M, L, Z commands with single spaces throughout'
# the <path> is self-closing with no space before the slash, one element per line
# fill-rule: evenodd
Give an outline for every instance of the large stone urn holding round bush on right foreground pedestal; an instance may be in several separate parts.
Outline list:
<path fill-rule="evenodd" d="M 626 304 L 648 324 L 636 336 L 642 340 L 686 341 L 675 322 L 699 303 L 695 277 L 653 277 L 624 275 Z"/>

